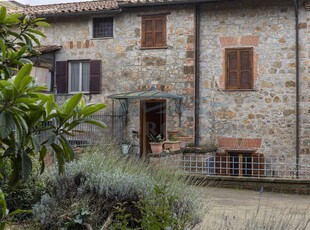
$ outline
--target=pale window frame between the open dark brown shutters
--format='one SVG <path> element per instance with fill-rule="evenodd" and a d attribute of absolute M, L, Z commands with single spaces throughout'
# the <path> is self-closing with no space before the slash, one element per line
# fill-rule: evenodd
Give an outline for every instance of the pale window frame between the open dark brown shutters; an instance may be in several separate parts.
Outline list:
<path fill-rule="evenodd" d="M 72 91 L 71 90 L 71 64 L 72 63 L 79 63 L 79 91 Z M 89 71 L 88 71 L 88 90 L 83 91 L 83 63 L 88 63 Z M 90 61 L 89 60 L 75 60 L 75 61 L 68 61 L 68 93 L 69 94 L 76 94 L 76 93 L 90 93 Z"/>

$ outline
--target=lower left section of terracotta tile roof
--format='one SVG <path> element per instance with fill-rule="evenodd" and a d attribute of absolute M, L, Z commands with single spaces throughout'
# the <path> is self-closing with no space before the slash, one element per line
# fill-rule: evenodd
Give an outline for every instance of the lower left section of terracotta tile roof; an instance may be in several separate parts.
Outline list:
<path fill-rule="evenodd" d="M 73 2 L 38 6 L 25 6 L 23 13 L 31 15 L 74 14 L 82 12 L 108 11 L 118 9 L 116 0 Z"/>

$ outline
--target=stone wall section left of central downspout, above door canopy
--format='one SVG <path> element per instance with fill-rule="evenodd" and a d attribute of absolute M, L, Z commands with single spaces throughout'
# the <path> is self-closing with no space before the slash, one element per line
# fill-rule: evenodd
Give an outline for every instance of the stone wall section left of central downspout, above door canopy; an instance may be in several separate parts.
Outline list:
<path fill-rule="evenodd" d="M 108 95 L 152 86 L 171 94 L 183 95 L 181 128 L 193 135 L 194 124 L 194 8 L 150 8 L 143 14 L 167 13 L 167 48 L 141 49 L 141 10 L 127 10 L 114 15 L 114 38 L 92 39 L 91 17 L 67 17 L 50 20 L 52 28 L 44 31 L 43 44 L 62 45 L 57 61 L 102 60 L 102 95 L 91 101 L 110 105 Z M 98 15 L 97 15 L 98 16 Z M 139 131 L 137 100 L 129 104 L 128 130 Z M 179 128 L 174 101 L 168 100 L 167 130 Z"/>

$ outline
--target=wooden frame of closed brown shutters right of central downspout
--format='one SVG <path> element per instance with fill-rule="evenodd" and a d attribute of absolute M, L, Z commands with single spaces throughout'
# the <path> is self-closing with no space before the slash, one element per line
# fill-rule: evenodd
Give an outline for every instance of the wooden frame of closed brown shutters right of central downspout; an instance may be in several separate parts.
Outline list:
<path fill-rule="evenodd" d="M 237 85 L 229 84 L 229 73 L 231 72 L 229 69 L 229 54 L 233 51 L 237 52 Z M 249 52 L 249 68 L 247 71 L 250 72 L 249 86 L 245 87 L 241 85 L 241 72 L 243 71 L 241 68 L 241 52 L 247 51 Z M 225 49 L 225 89 L 226 90 L 254 90 L 254 60 L 253 60 L 253 47 L 239 47 L 239 48 L 226 48 Z"/>

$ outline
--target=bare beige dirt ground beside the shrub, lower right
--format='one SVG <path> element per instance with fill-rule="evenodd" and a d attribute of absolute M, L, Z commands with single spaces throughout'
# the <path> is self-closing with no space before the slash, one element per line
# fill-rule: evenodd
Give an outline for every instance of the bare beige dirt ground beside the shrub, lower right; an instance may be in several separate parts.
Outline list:
<path fill-rule="evenodd" d="M 203 188 L 204 229 L 310 230 L 310 196 Z"/>

